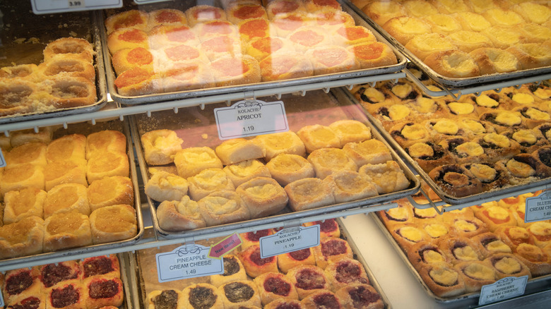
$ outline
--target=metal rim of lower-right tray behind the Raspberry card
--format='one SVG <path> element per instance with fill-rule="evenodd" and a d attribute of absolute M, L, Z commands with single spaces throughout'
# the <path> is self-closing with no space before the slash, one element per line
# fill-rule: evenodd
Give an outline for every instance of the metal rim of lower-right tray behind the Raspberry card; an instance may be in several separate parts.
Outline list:
<path fill-rule="evenodd" d="M 425 284 L 425 281 L 423 281 L 423 279 L 421 278 L 419 272 L 417 272 L 415 267 L 413 267 L 413 265 L 411 264 L 410 260 L 408 259 L 408 255 L 406 255 L 403 252 L 402 248 L 398 246 L 398 243 L 396 243 L 392 235 L 389 233 L 389 230 L 387 230 L 383 222 L 381 222 L 381 219 L 379 219 L 377 214 L 374 212 L 372 212 L 370 215 L 374 220 L 374 222 L 377 224 L 377 226 L 379 226 L 379 229 L 381 229 L 384 236 L 386 236 L 386 238 L 389 240 L 393 248 L 396 250 L 396 253 L 398 253 L 398 255 L 401 257 L 405 265 L 408 267 L 408 269 L 410 269 L 410 272 L 413 274 L 415 279 L 419 281 L 422 288 L 427 292 L 429 297 L 434 298 L 434 300 L 436 300 L 439 303 L 459 303 L 463 301 L 461 303 L 462 306 L 478 305 L 478 297 L 480 296 L 480 292 L 465 293 L 460 296 L 446 297 L 446 298 L 434 295 L 434 293 L 432 293 L 432 291 L 429 289 L 429 286 L 427 286 L 427 284 Z M 528 283 L 526 284 L 526 290 L 524 291 L 524 295 L 547 290 L 549 289 L 549 284 L 551 284 L 551 274 L 529 279 Z"/>

